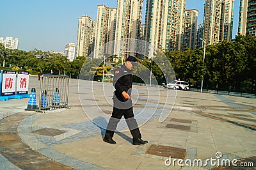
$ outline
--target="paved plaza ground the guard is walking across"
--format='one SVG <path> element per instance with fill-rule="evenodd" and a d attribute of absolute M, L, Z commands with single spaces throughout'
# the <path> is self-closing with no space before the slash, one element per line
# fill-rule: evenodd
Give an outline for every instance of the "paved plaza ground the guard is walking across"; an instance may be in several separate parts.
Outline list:
<path fill-rule="evenodd" d="M 132 145 L 124 120 L 116 144 L 102 141 L 110 83 L 70 79 L 71 109 L 24 111 L 28 98 L 0 100 L 0 169 L 256 169 L 256 99 L 133 87 L 134 114 L 148 141 L 140 146 Z M 31 88 L 39 104 L 35 76 Z"/>

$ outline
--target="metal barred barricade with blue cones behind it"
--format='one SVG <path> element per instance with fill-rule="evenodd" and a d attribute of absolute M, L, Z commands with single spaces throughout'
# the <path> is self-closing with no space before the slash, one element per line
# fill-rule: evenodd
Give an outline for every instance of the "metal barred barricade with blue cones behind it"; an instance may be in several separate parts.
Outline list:
<path fill-rule="evenodd" d="M 44 112 L 68 107 L 69 77 L 67 75 L 42 75 L 39 108 Z"/>

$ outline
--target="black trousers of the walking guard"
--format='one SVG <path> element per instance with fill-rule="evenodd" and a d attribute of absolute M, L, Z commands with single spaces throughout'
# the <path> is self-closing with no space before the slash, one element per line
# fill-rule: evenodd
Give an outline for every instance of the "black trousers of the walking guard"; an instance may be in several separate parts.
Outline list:
<path fill-rule="evenodd" d="M 109 119 L 105 137 L 113 137 L 115 129 L 117 127 L 117 123 L 120 121 L 122 116 L 124 116 L 125 118 L 125 121 L 132 134 L 132 138 L 140 139 L 141 138 L 140 129 L 138 128 L 137 121 L 134 119 L 132 107 L 129 109 L 118 109 L 116 107 L 113 107 L 112 116 Z"/>

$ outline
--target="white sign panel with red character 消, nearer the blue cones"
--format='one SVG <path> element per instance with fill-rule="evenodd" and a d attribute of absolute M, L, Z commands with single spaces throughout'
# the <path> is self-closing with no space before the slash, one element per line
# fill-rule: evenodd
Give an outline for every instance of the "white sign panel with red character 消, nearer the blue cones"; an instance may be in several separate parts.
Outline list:
<path fill-rule="evenodd" d="M 28 72 L 18 72 L 17 94 L 19 95 L 28 94 L 28 82 L 29 82 Z"/>

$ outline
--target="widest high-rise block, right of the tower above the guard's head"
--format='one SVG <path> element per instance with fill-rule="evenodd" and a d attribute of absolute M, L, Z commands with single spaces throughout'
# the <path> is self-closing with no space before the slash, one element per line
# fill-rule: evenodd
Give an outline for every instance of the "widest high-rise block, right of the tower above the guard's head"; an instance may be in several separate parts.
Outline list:
<path fill-rule="evenodd" d="M 145 41 L 155 47 L 180 50 L 183 45 L 186 0 L 147 0 Z"/>

